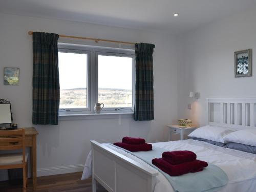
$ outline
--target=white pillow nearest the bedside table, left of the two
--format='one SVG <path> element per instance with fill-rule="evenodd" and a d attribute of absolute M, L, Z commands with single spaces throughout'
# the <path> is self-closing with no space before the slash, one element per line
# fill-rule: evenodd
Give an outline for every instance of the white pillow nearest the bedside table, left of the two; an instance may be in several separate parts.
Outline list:
<path fill-rule="evenodd" d="M 196 129 L 194 132 L 190 133 L 188 137 L 197 137 L 226 143 L 223 137 L 231 132 L 234 132 L 232 128 L 206 125 Z"/>

